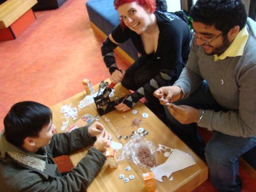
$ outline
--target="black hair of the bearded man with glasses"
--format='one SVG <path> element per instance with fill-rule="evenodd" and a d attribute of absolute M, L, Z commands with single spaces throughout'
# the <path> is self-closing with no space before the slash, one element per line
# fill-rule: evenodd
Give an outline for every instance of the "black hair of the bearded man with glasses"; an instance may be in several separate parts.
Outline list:
<path fill-rule="evenodd" d="M 242 0 L 198 0 L 189 12 L 195 22 L 214 24 L 223 36 L 234 26 L 245 27 L 247 14 Z"/>

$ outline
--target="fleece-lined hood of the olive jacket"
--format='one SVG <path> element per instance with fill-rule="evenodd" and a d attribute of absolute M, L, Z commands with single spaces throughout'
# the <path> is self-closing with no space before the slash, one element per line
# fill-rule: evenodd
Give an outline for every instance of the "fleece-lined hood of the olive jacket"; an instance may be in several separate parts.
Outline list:
<path fill-rule="evenodd" d="M 8 161 L 10 158 L 19 164 L 40 170 L 41 172 L 46 169 L 47 155 L 31 153 L 16 147 L 6 140 L 5 131 L 3 131 L 0 135 L 0 159 Z"/>

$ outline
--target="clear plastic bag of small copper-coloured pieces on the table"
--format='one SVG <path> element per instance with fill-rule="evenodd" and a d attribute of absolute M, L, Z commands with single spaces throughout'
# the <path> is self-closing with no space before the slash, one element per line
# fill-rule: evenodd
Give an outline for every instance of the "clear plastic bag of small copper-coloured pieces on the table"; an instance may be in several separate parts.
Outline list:
<path fill-rule="evenodd" d="M 156 148 L 151 141 L 146 140 L 145 137 L 134 135 L 123 146 L 118 161 L 131 160 L 139 167 L 150 169 L 156 165 L 155 151 Z"/>

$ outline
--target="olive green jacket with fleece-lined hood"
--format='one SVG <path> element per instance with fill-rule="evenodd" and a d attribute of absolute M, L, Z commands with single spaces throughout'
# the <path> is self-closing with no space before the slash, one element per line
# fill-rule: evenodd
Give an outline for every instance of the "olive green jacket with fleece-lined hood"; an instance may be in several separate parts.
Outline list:
<path fill-rule="evenodd" d="M 68 155 L 93 144 L 88 127 L 71 133 L 59 133 L 38 153 L 30 153 L 9 143 L 5 132 L 0 135 L 1 191 L 85 191 L 104 164 L 106 157 L 91 147 L 71 172 L 61 176 L 53 157 Z"/>

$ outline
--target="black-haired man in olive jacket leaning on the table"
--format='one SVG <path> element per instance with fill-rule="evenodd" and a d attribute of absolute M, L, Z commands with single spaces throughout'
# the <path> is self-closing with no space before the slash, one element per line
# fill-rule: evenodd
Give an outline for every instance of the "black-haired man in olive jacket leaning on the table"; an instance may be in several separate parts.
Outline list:
<path fill-rule="evenodd" d="M 52 112 L 37 102 L 11 107 L 0 135 L 1 191 L 85 191 L 106 157 L 111 135 L 101 123 L 53 134 Z M 98 137 L 96 138 L 96 136 Z M 94 144 L 93 144 L 94 143 Z M 93 144 L 71 172 L 61 175 L 53 157 Z"/>

